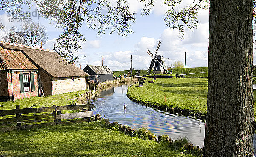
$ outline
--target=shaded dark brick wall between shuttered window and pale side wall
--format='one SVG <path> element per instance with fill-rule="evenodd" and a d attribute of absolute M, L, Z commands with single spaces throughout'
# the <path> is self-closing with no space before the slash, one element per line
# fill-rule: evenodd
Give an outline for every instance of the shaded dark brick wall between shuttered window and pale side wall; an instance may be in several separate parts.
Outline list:
<path fill-rule="evenodd" d="M 41 78 L 44 96 L 52 95 L 52 78 L 41 70 L 39 70 L 39 75 Z"/>

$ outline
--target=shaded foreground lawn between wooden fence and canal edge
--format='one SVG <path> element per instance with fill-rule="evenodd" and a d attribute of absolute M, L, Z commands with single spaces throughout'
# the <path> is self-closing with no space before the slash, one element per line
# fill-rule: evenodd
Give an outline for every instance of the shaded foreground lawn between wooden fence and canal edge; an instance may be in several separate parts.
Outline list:
<path fill-rule="evenodd" d="M 107 129 L 100 122 L 5 132 L 0 139 L 0 155 L 8 157 L 194 157 L 165 143 Z"/>

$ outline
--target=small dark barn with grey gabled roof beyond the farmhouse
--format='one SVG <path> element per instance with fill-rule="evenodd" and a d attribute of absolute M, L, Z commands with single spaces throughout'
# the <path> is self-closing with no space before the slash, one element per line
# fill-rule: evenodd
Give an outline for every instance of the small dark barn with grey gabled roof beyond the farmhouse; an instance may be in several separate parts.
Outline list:
<path fill-rule="evenodd" d="M 103 83 L 114 80 L 114 73 L 107 66 L 87 65 L 83 70 L 90 75 L 87 77 L 90 81 Z"/>

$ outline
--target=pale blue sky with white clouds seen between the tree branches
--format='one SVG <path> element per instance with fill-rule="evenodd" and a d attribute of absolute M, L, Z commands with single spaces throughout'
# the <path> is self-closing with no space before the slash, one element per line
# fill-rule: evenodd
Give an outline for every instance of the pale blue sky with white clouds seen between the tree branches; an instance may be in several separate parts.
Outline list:
<path fill-rule="evenodd" d="M 186 0 L 185 3 L 189 1 Z M 185 3 L 180 7 L 186 6 Z M 186 67 L 208 66 L 209 10 L 199 11 L 198 29 L 194 31 L 185 29 L 184 38 L 180 38 L 177 29 L 170 29 L 164 23 L 165 12 L 170 9 L 170 6 L 163 5 L 163 0 L 155 0 L 149 16 L 141 16 L 143 3 L 139 3 L 138 0 L 129 0 L 129 8 L 131 12 L 136 13 L 136 22 L 132 23 L 134 33 L 127 36 L 118 35 L 116 32 L 109 34 L 108 30 L 103 35 L 97 35 L 97 30 L 89 29 L 85 24 L 81 26 L 79 31 L 84 35 L 86 42 L 81 44 L 82 49 L 75 54 L 86 57 L 79 59 L 75 63 L 76 66 L 79 67 L 81 64 L 83 69 L 87 64 L 101 65 L 103 55 L 103 65 L 108 66 L 112 71 L 129 70 L 132 55 L 132 67 L 135 70 L 146 70 L 152 60 L 146 53 L 147 49 L 154 53 L 159 41 L 161 45 L 157 54 L 165 58 L 166 66 L 174 61 L 184 62 L 185 52 Z M 27 10 L 34 12 L 35 15 L 35 8 Z M 12 26 L 20 28 L 22 23 L 11 22 L 10 18 L 12 17 L 4 11 L 0 11 L 0 20 L 6 29 Z M 45 20 L 43 17 L 32 17 L 32 21 L 40 22 L 47 28 L 48 41 L 43 48 L 53 49 L 53 43 L 61 34 L 61 30 L 55 28 L 51 24 L 52 21 Z M 0 32 L 0 40 L 3 33 L 3 31 Z M 254 64 L 255 61 L 253 59 Z"/>

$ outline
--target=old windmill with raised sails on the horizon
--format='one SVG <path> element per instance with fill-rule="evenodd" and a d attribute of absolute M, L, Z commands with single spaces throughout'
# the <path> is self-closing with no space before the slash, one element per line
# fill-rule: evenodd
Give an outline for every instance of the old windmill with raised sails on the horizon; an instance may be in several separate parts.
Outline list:
<path fill-rule="evenodd" d="M 157 55 L 157 51 L 160 47 L 160 44 L 161 44 L 161 42 L 159 41 L 155 55 L 153 55 L 153 53 L 151 53 L 148 49 L 147 53 L 153 58 L 150 66 L 148 67 L 148 71 L 147 71 L 148 73 L 151 72 L 154 65 L 155 65 L 154 70 L 153 70 L 154 74 L 169 73 L 169 70 L 166 68 L 163 56 Z"/>

